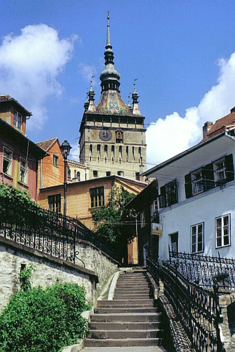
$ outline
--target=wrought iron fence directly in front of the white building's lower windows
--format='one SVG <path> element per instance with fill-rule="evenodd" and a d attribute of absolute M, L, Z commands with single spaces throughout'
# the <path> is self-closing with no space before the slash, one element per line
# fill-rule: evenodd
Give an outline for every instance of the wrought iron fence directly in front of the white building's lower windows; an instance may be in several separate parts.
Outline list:
<path fill-rule="evenodd" d="M 202 287 L 212 287 L 214 280 L 225 289 L 235 287 L 235 260 L 213 255 L 177 253 L 169 250 L 170 264 L 190 282 Z"/>

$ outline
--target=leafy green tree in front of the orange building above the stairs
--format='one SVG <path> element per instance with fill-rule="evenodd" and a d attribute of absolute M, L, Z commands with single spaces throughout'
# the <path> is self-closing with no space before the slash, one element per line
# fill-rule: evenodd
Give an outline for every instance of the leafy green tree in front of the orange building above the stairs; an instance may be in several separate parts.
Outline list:
<path fill-rule="evenodd" d="M 92 211 L 95 231 L 105 243 L 114 245 L 118 251 L 135 235 L 133 211 L 125 208 L 134 196 L 113 184 L 106 206 Z"/>

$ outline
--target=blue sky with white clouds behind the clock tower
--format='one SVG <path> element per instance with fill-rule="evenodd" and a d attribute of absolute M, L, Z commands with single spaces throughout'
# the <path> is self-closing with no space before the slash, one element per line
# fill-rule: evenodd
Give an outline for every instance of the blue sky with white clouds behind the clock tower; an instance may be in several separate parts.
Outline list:
<path fill-rule="evenodd" d="M 203 123 L 235 105 L 235 2 L 2 0 L 0 94 L 32 111 L 34 142 L 67 139 L 78 155 L 92 75 L 100 98 L 107 10 L 126 103 L 138 79 L 148 169 L 198 142 Z"/>

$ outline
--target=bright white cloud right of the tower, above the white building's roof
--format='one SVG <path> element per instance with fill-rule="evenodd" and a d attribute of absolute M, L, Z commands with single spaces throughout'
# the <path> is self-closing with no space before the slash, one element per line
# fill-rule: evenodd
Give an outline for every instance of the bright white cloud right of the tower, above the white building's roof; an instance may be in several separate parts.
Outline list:
<path fill-rule="evenodd" d="M 198 106 L 188 108 L 184 117 L 174 112 L 147 128 L 148 163 L 159 163 L 186 150 L 202 139 L 206 121 L 214 122 L 229 114 L 235 105 L 235 52 L 229 60 L 220 59 L 219 68 L 218 84 L 211 87 Z"/>

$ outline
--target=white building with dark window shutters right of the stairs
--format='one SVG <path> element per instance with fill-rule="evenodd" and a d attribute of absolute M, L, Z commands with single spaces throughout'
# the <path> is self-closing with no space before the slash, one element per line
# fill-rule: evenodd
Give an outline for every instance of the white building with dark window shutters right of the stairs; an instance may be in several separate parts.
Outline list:
<path fill-rule="evenodd" d="M 144 173 L 158 180 L 161 260 L 169 246 L 235 257 L 234 109 L 207 126 L 201 143 Z"/>

